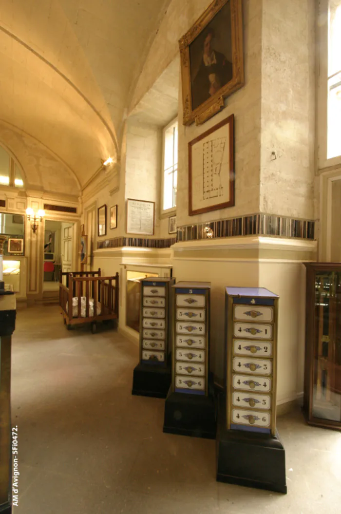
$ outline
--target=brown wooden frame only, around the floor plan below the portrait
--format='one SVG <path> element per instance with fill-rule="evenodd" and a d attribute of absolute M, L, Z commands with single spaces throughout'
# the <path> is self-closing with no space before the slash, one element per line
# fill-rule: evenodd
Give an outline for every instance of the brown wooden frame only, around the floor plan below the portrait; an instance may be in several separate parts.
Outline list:
<path fill-rule="evenodd" d="M 193 210 L 192 203 L 192 146 L 196 144 L 201 139 L 213 134 L 218 128 L 221 128 L 224 125 L 230 125 L 230 137 L 229 137 L 229 153 L 230 153 L 230 200 L 225 201 L 222 204 L 213 205 L 211 207 L 203 207 L 202 209 Z M 196 137 L 192 141 L 188 143 L 188 214 L 193 216 L 195 214 L 201 214 L 203 212 L 215 211 L 217 209 L 226 209 L 228 207 L 233 207 L 235 205 L 235 171 L 234 171 L 234 115 L 232 114 L 228 118 L 220 121 L 214 127 L 209 128 L 206 132 Z"/>

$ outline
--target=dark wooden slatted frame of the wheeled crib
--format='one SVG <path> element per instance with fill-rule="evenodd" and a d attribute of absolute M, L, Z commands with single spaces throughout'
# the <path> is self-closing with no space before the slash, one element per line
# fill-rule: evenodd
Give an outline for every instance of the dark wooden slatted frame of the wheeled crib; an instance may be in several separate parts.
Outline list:
<path fill-rule="evenodd" d="M 66 285 L 63 284 L 66 277 Z M 114 282 L 114 284 L 112 284 Z M 86 298 L 85 318 L 81 317 L 81 297 Z M 72 316 L 72 298 L 78 297 L 78 315 Z M 89 316 L 89 300 L 93 298 L 93 316 Z M 101 302 L 101 314 L 97 314 L 97 302 Z M 59 305 L 62 308 L 64 324 L 71 325 L 118 319 L 119 317 L 119 274 L 114 277 L 101 277 L 98 271 L 60 272 Z"/>

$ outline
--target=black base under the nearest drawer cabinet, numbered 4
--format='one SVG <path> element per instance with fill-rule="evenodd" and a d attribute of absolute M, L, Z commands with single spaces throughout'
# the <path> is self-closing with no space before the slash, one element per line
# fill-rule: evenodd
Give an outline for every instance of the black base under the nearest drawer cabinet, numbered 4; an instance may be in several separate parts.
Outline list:
<path fill-rule="evenodd" d="M 255 435 L 219 425 L 217 481 L 286 493 L 285 450 L 278 433 Z"/>

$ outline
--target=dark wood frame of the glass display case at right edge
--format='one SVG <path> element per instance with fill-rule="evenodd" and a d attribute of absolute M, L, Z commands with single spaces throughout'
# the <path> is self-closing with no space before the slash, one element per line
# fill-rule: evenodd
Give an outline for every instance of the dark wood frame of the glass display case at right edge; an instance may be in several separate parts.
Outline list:
<path fill-rule="evenodd" d="M 305 378 L 303 410 L 309 425 L 323 428 L 341 430 L 341 422 L 313 415 L 313 387 L 314 387 L 314 354 L 315 354 L 315 276 L 320 271 L 338 271 L 341 273 L 341 263 L 304 263 L 307 269 L 306 285 L 306 347 L 305 347 Z M 341 370 L 340 370 L 341 373 Z"/>

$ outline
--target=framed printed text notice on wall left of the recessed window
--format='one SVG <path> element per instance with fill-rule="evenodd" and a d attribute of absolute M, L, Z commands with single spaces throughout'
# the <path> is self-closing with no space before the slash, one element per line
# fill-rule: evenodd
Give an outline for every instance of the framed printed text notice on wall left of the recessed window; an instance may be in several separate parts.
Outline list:
<path fill-rule="evenodd" d="M 127 199 L 127 234 L 154 235 L 155 202 Z"/>

